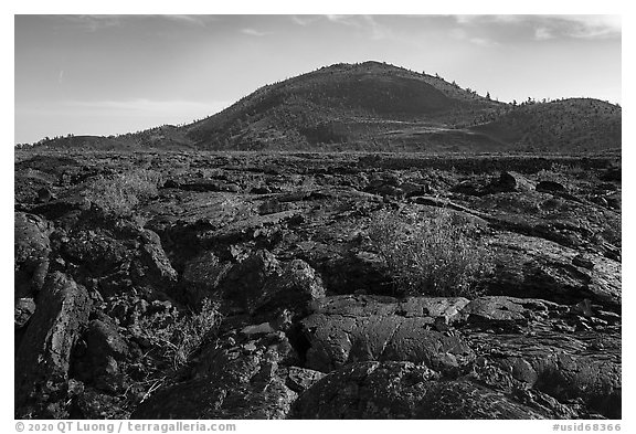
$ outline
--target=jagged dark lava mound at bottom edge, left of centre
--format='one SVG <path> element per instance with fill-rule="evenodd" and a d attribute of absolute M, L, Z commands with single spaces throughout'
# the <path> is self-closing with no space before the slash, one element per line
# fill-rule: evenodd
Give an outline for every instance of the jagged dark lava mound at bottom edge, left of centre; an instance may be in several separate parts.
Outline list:
<path fill-rule="evenodd" d="M 131 419 L 285 419 L 298 396 L 282 364 L 289 351 L 279 335 L 225 340 L 202 352 L 192 379 L 157 391 Z"/>

